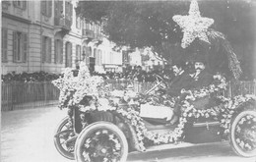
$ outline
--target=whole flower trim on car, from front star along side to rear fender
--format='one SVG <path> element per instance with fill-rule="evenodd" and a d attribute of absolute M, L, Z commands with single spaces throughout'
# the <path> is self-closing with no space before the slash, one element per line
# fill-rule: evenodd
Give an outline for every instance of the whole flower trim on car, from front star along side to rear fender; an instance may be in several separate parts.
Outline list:
<path fill-rule="evenodd" d="M 147 102 L 147 99 L 142 100 L 142 95 L 137 95 L 132 91 L 112 91 L 112 93 L 110 93 L 105 86 L 101 86 L 101 88 L 99 88 L 102 80 L 98 77 L 91 77 L 88 70 L 83 68 L 83 65 L 81 67 L 82 70 L 80 70 L 78 77 L 74 77 L 72 71 L 68 69 L 64 73 L 63 78 L 53 81 L 53 83 L 61 90 L 61 107 L 76 106 L 83 112 L 96 110 L 115 111 L 119 113 L 135 128 L 138 139 L 138 143 L 136 143 L 136 145 L 141 151 L 146 150 L 144 139 L 150 139 L 155 144 L 177 142 L 183 135 L 185 124 L 193 119 L 217 118 L 221 121 L 221 126 L 224 128 L 224 134 L 227 134 L 229 133 L 231 117 L 236 111 L 238 111 L 236 108 L 250 99 L 256 100 L 254 95 L 239 95 L 232 99 L 219 96 L 221 104 L 218 106 L 213 106 L 209 109 L 203 110 L 196 109 L 191 101 L 200 99 L 226 87 L 224 78 L 221 75 L 216 75 L 214 76 L 215 82 L 208 87 L 203 87 L 199 90 L 182 91 L 183 93 L 187 93 L 187 96 L 182 101 L 183 113 L 179 118 L 179 124 L 174 131 L 167 134 L 157 134 L 147 130 L 143 123 L 143 119 L 139 115 L 139 111 L 136 111 L 136 109 L 133 108 L 134 104 L 137 104 L 139 107 L 141 103 L 144 103 L 145 101 Z M 84 97 L 87 95 L 91 95 L 95 99 L 91 100 L 87 105 L 81 104 L 81 101 L 83 101 Z M 122 107 L 119 107 L 118 104 L 114 104 L 114 102 L 112 102 L 114 96 L 119 97 L 119 99 L 128 98 L 125 99 L 128 101 L 128 108 L 123 109 Z M 133 99 L 129 100 L 129 98 Z M 136 102 L 130 102 L 132 100 L 135 100 Z M 151 100 L 151 103 L 156 103 L 156 105 L 163 103 L 160 102 L 161 101 L 158 101 L 156 103 L 154 100 Z"/>

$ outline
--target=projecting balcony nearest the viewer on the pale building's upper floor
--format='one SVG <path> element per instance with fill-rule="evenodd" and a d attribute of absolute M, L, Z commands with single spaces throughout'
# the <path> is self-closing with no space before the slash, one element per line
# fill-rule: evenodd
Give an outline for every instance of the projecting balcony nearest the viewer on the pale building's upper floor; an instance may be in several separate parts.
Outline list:
<path fill-rule="evenodd" d="M 71 21 L 65 18 L 54 18 L 54 31 L 61 32 L 63 35 L 71 30 Z"/>

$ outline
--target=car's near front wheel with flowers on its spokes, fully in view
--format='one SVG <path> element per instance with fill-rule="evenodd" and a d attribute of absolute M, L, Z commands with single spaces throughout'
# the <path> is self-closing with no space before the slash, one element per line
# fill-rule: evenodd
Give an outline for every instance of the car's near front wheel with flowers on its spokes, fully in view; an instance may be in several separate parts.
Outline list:
<path fill-rule="evenodd" d="M 83 130 L 75 144 L 78 162 L 125 162 L 128 143 L 123 132 L 109 122 L 96 122 Z"/>

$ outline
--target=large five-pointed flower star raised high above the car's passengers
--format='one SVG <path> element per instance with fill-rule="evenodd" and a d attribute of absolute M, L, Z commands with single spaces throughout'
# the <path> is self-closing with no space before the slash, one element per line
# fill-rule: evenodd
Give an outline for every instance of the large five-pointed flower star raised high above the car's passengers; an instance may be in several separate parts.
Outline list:
<path fill-rule="evenodd" d="M 199 7 L 196 0 L 191 1 L 188 14 L 188 16 L 175 15 L 172 17 L 172 20 L 176 22 L 183 31 L 181 47 L 188 47 L 188 45 L 192 43 L 196 37 L 210 43 L 207 37 L 207 29 L 208 27 L 212 26 L 215 21 L 213 19 L 200 16 Z"/>

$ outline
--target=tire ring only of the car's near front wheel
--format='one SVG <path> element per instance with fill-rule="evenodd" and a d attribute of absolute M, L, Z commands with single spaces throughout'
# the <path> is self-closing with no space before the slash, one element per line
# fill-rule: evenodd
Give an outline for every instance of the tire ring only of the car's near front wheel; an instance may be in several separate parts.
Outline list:
<path fill-rule="evenodd" d="M 128 142 L 123 134 L 123 132 L 114 124 L 109 123 L 109 122 L 96 122 L 91 125 L 89 125 L 86 129 L 84 129 L 80 135 L 78 136 L 75 144 L 75 158 L 77 162 L 85 162 L 85 159 L 83 155 L 81 154 L 81 147 L 84 144 L 85 139 L 87 138 L 87 135 L 90 134 L 91 132 L 94 132 L 98 129 L 107 129 L 111 130 L 115 135 L 118 135 L 119 138 L 121 139 L 121 145 L 123 147 L 123 155 L 121 157 L 120 162 L 125 162 L 128 156 Z"/>

